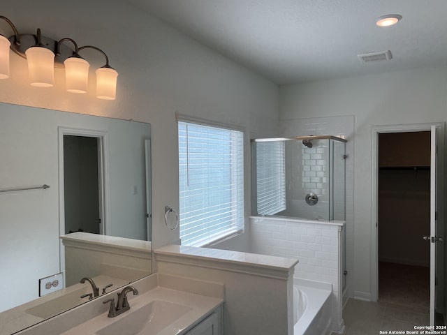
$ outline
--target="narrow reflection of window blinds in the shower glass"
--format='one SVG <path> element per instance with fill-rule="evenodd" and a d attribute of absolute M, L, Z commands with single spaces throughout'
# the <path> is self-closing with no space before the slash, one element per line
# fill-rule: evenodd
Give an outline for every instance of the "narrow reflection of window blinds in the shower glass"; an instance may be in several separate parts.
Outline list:
<path fill-rule="evenodd" d="M 286 209 L 284 142 L 256 143 L 257 212 L 274 215 Z"/>

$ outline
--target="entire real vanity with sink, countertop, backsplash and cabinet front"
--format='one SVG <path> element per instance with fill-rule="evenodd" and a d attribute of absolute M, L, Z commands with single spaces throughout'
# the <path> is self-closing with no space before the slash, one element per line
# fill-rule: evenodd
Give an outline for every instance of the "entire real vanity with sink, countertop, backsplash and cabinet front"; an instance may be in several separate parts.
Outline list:
<path fill-rule="evenodd" d="M 127 295 L 129 311 L 110 318 L 107 293 L 19 334 L 221 335 L 224 287 L 219 283 L 153 274 L 135 281 Z M 105 304 L 104 304 L 105 302 Z"/>

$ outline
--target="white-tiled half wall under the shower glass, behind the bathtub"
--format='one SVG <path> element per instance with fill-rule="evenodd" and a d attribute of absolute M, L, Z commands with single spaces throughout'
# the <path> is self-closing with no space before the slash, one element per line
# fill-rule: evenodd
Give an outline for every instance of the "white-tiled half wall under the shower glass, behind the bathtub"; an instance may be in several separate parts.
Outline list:
<path fill-rule="evenodd" d="M 332 285 L 332 332 L 342 332 L 344 221 L 250 217 L 251 252 L 298 258 L 295 278 Z"/>

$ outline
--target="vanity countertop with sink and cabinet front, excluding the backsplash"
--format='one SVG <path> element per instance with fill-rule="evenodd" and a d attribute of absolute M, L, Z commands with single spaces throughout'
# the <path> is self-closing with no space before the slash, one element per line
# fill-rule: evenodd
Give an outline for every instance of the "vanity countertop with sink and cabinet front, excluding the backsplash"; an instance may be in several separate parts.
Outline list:
<path fill-rule="evenodd" d="M 221 303 L 221 299 L 157 287 L 133 297 L 129 311 L 115 318 L 105 312 L 63 335 L 220 335 Z"/>

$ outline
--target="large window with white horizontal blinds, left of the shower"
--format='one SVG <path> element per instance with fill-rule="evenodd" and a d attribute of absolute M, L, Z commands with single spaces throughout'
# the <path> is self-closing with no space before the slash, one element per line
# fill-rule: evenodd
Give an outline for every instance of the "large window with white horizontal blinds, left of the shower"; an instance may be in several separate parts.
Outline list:
<path fill-rule="evenodd" d="M 244 134 L 179 121 L 182 245 L 206 246 L 244 229 Z"/>

